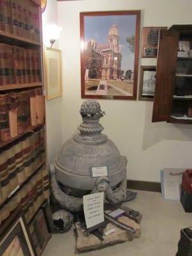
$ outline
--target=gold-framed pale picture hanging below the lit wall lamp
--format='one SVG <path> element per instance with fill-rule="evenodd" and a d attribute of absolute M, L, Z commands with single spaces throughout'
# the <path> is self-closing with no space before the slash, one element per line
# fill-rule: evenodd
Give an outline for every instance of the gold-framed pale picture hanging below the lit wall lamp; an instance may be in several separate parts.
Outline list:
<path fill-rule="evenodd" d="M 62 95 L 61 50 L 45 49 L 45 93 L 50 100 Z"/>

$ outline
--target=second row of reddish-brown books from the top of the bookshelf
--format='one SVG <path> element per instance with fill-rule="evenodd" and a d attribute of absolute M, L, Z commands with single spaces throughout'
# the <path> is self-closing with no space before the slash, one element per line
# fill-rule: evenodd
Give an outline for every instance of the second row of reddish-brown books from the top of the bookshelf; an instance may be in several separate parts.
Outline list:
<path fill-rule="evenodd" d="M 0 44 L 0 86 L 41 82 L 40 56 L 40 50 Z"/>

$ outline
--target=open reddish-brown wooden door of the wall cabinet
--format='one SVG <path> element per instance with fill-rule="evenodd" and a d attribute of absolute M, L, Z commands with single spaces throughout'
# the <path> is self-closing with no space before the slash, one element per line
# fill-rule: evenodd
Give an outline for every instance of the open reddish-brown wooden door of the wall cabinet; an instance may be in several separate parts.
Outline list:
<path fill-rule="evenodd" d="M 161 31 L 152 122 L 168 121 L 172 111 L 179 33 Z"/>

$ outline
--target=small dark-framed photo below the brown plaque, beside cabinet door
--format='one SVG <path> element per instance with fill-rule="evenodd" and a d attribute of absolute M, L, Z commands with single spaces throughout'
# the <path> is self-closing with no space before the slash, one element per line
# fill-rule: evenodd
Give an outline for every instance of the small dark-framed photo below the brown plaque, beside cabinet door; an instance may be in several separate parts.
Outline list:
<path fill-rule="evenodd" d="M 156 66 L 141 66 L 139 100 L 153 100 L 156 84 Z"/>

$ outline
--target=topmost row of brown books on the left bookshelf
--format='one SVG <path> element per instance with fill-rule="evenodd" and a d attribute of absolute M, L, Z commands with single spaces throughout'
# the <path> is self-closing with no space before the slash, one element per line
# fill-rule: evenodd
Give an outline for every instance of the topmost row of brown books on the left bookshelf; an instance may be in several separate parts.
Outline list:
<path fill-rule="evenodd" d="M 31 0 L 1 0 L 0 30 L 40 41 L 40 13 Z"/>

